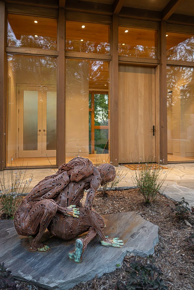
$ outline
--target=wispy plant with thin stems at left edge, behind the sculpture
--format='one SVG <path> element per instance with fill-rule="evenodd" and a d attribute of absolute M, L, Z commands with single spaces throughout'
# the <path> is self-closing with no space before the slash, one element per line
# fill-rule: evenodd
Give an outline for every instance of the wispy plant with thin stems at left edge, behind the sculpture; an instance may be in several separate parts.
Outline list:
<path fill-rule="evenodd" d="M 16 167 L 0 172 L 0 210 L 5 218 L 13 219 L 14 213 L 27 193 L 33 174 L 27 174 L 27 167 Z"/>

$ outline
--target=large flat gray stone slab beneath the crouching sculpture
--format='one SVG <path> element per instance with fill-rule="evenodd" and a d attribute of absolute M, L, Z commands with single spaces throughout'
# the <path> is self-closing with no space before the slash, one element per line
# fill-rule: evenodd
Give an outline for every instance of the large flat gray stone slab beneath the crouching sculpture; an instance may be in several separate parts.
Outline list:
<path fill-rule="evenodd" d="M 119 236 L 124 241 L 121 248 L 105 247 L 99 238 L 93 240 L 85 250 L 82 263 L 68 258 L 74 248 L 75 239 L 64 241 L 44 233 L 43 241 L 51 247 L 45 253 L 31 253 L 28 246 L 32 239 L 18 236 L 11 220 L 0 221 L 0 261 L 5 262 L 13 275 L 46 289 L 67 290 L 79 282 L 97 275 L 113 272 L 127 253 L 148 256 L 154 253 L 158 243 L 158 226 L 144 220 L 135 212 L 115 213 L 103 216 L 105 234 Z"/>

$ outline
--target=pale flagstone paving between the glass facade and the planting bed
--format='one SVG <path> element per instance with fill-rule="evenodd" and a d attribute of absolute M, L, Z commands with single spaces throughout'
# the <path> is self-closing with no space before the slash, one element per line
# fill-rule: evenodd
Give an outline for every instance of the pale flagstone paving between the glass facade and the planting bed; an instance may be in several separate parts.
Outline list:
<path fill-rule="evenodd" d="M 162 189 L 164 189 L 164 194 L 178 201 L 184 196 L 189 202 L 189 206 L 194 207 L 194 163 L 171 164 L 165 165 L 165 167 L 168 167 L 169 169 L 164 169 L 162 172 L 169 171 L 169 173 L 162 187 Z M 128 170 L 125 166 L 119 166 L 117 167 L 117 170 L 125 172 L 125 178 L 117 184 L 118 188 L 133 187 L 132 171 Z M 54 169 L 47 168 L 27 170 L 28 175 L 30 175 L 31 172 L 33 172 L 34 178 L 28 191 L 30 191 L 45 176 L 51 175 L 55 171 Z"/>

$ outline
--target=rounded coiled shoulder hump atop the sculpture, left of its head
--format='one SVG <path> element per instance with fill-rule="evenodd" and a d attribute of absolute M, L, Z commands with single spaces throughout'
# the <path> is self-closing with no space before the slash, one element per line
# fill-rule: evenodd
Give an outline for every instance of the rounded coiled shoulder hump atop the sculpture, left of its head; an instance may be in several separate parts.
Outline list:
<path fill-rule="evenodd" d="M 66 170 L 71 181 L 80 181 L 93 173 L 93 164 L 88 158 L 75 157 L 66 163 Z"/>

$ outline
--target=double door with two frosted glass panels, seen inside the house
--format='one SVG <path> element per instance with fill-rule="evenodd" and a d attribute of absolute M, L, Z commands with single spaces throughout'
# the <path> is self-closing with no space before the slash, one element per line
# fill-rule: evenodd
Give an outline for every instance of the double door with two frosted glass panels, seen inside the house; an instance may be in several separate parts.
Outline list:
<path fill-rule="evenodd" d="M 18 157 L 56 156 L 56 88 L 19 86 Z"/>

